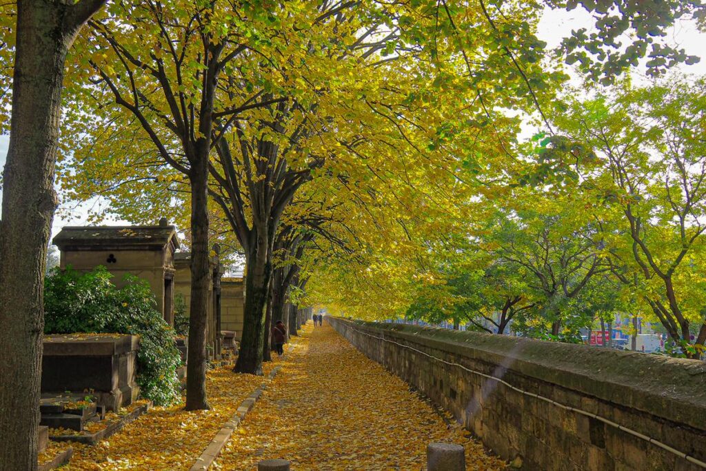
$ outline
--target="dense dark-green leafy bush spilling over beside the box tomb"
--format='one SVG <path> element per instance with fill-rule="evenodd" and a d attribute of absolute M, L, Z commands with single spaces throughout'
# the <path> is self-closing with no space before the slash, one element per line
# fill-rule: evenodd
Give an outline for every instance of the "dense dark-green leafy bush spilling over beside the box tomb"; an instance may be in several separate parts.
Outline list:
<path fill-rule="evenodd" d="M 110 282 L 102 266 L 88 273 L 54 268 L 44 282 L 44 333 L 122 333 L 140 336 L 137 383 L 156 405 L 179 400 L 174 330 L 155 309 L 145 280 L 126 275 L 125 287 Z"/>

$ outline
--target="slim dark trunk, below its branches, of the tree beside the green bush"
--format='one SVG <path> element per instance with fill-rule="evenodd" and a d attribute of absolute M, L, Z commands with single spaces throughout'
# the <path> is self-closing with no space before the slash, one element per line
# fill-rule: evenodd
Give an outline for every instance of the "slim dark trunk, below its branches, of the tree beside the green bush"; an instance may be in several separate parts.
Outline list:
<path fill-rule="evenodd" d="M 208 141 L 202 139 L 205 145 Z M 200 142 L 201 144 L 201 142 Z M 211 270 L 208 259 L 208 148 L 191 164 L 191 304 L 186 362 L 186 410 L 210 409 L 206 398 L 206 328 Z"/>

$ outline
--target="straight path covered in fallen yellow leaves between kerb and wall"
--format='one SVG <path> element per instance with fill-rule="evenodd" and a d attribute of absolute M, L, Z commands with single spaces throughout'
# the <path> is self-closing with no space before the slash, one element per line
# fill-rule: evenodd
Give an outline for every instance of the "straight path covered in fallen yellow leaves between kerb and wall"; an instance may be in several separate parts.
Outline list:
<path fill-rule="evenodd" d="M 259 460 L 285 458 L 293 470 L 421 470 L 432 441 L 462 443 L 467 470 L 505 465 L 328 325 L 306 326 L 282 365 L 218 469 L 254 470 Z"/>

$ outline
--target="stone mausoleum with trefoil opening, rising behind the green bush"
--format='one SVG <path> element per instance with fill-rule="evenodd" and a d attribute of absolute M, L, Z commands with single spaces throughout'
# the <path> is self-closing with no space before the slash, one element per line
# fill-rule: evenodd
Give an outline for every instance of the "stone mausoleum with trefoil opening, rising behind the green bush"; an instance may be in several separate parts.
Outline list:
<path fill-rule="evenodd" d="M 117 287 L 130 273 L 147 280 L 157 310 L 174 326 L 174 252 L 179 249 L 177 229 L 165 218 L 155 226 L 64 227 L 54 237 L 61 251 L 61 268 L 89 271 L 104 266 Z"/>

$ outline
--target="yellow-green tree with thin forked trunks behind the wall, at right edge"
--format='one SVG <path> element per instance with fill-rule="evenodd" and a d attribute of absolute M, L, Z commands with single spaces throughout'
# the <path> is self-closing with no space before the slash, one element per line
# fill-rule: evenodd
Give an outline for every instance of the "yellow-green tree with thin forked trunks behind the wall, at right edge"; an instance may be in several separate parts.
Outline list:
<path fill-rule="evenodd" d="M 606 211 L 603 234 L 614 275 L 690 358 L 706 342 L 706 81 L 628 82 L 558 119 L 592 145 L 601 166 L 585 187 Z M 698 334 L 691 338 L 692 324 Z"/>

